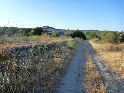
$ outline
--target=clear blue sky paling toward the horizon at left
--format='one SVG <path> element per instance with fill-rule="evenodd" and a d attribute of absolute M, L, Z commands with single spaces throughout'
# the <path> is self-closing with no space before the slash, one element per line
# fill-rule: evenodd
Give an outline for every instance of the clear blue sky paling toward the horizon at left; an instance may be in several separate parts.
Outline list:
<path fill-rule="evenodd" d="M 124 31 L 124 0 L 0 0 L 0 26 Z"/>

